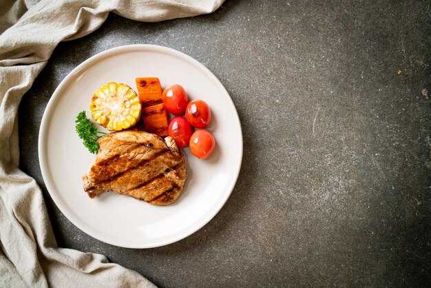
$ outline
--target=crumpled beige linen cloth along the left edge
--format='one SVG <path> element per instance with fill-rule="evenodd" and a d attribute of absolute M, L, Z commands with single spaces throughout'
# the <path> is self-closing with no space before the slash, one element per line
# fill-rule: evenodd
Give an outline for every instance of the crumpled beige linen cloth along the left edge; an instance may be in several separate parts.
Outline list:
<path fill-rule="evenodd" d="M 105 256 L 59 248 L 41 190 L 19 170 L 21 97 L 60 41 L 90 34 L 109 11 L 138 21 L 213 12 L 223 0 L 0 0 L 0 287 L 153 287 Z"/>

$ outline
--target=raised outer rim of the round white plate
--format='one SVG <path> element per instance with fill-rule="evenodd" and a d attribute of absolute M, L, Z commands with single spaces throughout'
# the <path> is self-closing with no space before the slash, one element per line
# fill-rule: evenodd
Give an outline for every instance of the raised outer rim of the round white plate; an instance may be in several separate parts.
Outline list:
<path fill-rule="evenodd" d="M 176 56 L 176 58 L 184 59 L 188 63 L 191 63 L 196 68 L 199 68 L 206 76 L 208 76 L 214 83 L 219 85 L 220 88 L 222 90 L 224 90 L 224 92 L 226 92 L 226 94 L 228 96 L 227 101 L 230 101 L 229 103 L 231 104 L 231 109 L 233 109 L 233 112 L 235 112 L 234 117 L 236 117 L 236 120 L 238 121 L 237 122 L 238 123 L 238 129 L 240 132 L 239 133 L 240 151 L 238 151 L 238 153 L 240 154 L 239 163 L 238 163 L 239 165 L 238 165 L 238 167 L 236 167 L 235 170 L 233 170 L 233 172 L 235 173 L 235 175 L 233 175 L 233 181 L 228 186 L 227 193 L 224 195 L 224 198 L 221 199 L 220 205 L 215 207 L 215 209 L 213 209 L 213 211 L 211 213 L 209 213 L 207 215 L 207 217 L 203 218 L 202 221 L 200 223 L 198 223 L 198 225 L 196 225 L 196 227 L 192 227 L 192 229 L 187 230 L 185 233 L 182 233 L 179 236 L 170 238 L 168 240 L 162 240 L 162 241 L 158 241 L 155 243 L 147 243 L 147 244 L 142 244 L 142 245 L 130 245 L 127 243 L 118 243 L 116 241 L 111 241 L 109 239 L 99 237 L 98 235 L 96 236 L 96 235 L 92 234 L 91 232 L 87 231 L 86 227 L 81 227 L 81 225 L 78 224 L 79 220 L 78 219 L 75 220 L 74 216 L 69 213 L 69 211 L 68 211 L 69 208 L 67 208 L 66 205 L 63 206 L 61 204 L 61 201 L 59 200 L 59 198 L 57 198 L 56 193 L 58 194 L 59 192 L 55 188 L 55 184 L 54 184 L 55 181 L 52 180 L 52 176 L 48 175 L 49 174 L 48 173 L 49 165 L 45 161 L 45 159 L 48 157 L 48 153 L 45 154 L 45 152 L 44 152 L 47 144 L 43 140 L 44 138 L 46 138 L 46 135 L 48 135 L 48 133 L 49 133 L 48 132 L 48 125 L 50 123 L 49 119 L 52 117 L 52 113 L 53 113 L 53 107 L 52 106 L 54 105 L 54 103 L 56 103 L 56 101 L 59 101 L 59 99 L 61 99 L 60 91 L 63 90 L 65 85 L 67 85 L 67 83 L 70 82 L 70 79 L 72 79 L 76 75 L 76 73 L 81 71 L 83 68 L 86 68 L 88 65 L 94 65 L 98 61 L 103 61 L 105 56 L 108 56 L 109 54 L 121 54 L 122 52 L 130 52 L 132 50 L 152 50 L 152 51 L 156 51 L 156 52 L 164 52 L 167 54 L 174 55 L 174 56 Z M 54 200 L 55 205 L 57 207 L 59 207 L 61 213 L 73 225 L 75 225 L 78 229 L 80 229 L 85 234 L 91 236 L 92 238 L 100 240 L 103 243 L 107 243 L 109 245 L 114 245 L 116 247 L 125 247 L 125 248 L 133 248 L 133 249 L 147 249 L 147 248 L 161 247 L 161 246 L 169 245 L 171 243 L 176 243 L 179 240 L 187 238 L 191 234 L 196 233 L 199 229 L 204 227 L 204 225 L 207 225 L 207 223 L 209 223 L 209 221 L 211 221 L 215 217 L 215 215 L 217 215 L 218 212 L 220 212 L 222 207 L 224 207 L 224 204 L 226 204 L 227 199 L 229 198 L 229 196 L 233 192 L 233 189 L 235 188 L 235 185 L 238 182 L 238 177 L 240 175 L 240 169 L 242 167 L 243 150 L 244 150 L 244 141 L 243 141 L 243 136 L 242 136 L 242 127 L 241 127 L 240 117 L 238 115 L 238 111 L 236 110 L 235 104 L 233 103 L 233 100 L 232 100 L 229 92 L 227 92 L 226 88 L 220 82 L 220 80 L 205 65 L 203 65 L 202 63 L 200 63 L 198 60 L 194 59 L 193 57 L 191 57 L 191 56 L 189 56 L 183 52 L 180 52 L 178 50 L 175 50 L 173 48 L 168 48 L 165 46 L 153 45 L 153 44 L 131 44 L 131 45 L 121 45 L 118 47 L 110 48 L 110 49 L 105 50 L 103 52 L 99 52 L 97 54 L 94 54 L 93 56 L 90 56 L 90 58 L 86 59 L 85 61 L 83 61 L 82 63 L 77 65 L 74 69 L 72 69 L 72 71 L 70 71 L 67 74 L 67 76 L 65 76 L 65 78 L 61 81 L 61 83 L 57 86 L 57 88 L 52 93 L 52 95 L 48 101 L 48 104 L 46 105 L 45 110 L 43 111 L 41 126 L 39 128 L 39 137 L 38 137 L 39 167 L 41 168 L 41 174 L 42 174 L 43 182 L 45 183 L 45 187 L 48 190 L 48 194 L 50 194 L 50 197 L 52 198 L 52 200 Z M 55 191 L 56 193 L 51 192 L 51 191 Z"/>

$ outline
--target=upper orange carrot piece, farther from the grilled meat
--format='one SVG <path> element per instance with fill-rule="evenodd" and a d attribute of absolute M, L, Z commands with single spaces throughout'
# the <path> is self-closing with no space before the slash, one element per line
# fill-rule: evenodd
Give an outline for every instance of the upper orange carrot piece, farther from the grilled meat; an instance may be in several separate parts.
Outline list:
<path fill-rule="evenodd" d="M 135 80 L 142 107 L 162 103 L 162 85 L 157 77 L 138 77 Z"/>

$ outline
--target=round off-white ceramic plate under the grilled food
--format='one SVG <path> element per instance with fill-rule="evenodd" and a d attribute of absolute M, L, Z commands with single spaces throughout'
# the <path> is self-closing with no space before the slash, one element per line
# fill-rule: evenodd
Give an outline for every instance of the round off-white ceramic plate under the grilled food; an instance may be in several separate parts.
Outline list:
<path fill-rule="evenodd" d="M 82 176 L 94 161 L 74 130 L 78 112 L 90 116 L 90 97 L 115 81 L 136 89 L 137 76 L 156 76 L 162 87 L 180 83 L 189 101 L 211 107 L 208 130 L 216 148 L 205 161 L 183 149 L 187 181 L 174 204 L 159 207 L 109 192 L 90 199 Z M 52 95 L 41 123 L 39 161 L 48 192 L 76 227 L 105 243 L 149 248 L 174 243 L 196 232 L 222 208 L 242 161 L 242 132 L 235 106 L 218 79 L 190 56 L 156 45 L 107 50 L 78 65 Z"/>

